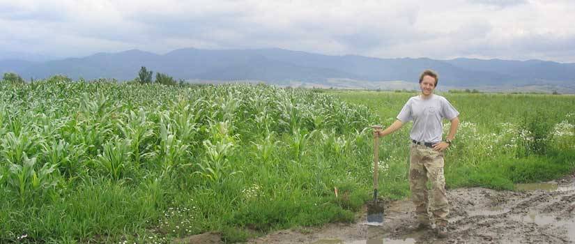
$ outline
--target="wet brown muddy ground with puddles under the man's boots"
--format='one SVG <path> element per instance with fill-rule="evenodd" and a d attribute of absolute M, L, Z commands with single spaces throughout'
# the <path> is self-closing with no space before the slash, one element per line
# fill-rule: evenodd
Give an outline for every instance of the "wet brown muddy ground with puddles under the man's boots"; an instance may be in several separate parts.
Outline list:
<path fill-rule="evenodd" d="M 485 188 L 449 190 L 450 234 L 413 230 L 417 224 L 409 199 L 385 207 L 382 226 L 358 222 L 276 231 L 247 243 L 575 243 L 575 175 L 523 191 Z"/>

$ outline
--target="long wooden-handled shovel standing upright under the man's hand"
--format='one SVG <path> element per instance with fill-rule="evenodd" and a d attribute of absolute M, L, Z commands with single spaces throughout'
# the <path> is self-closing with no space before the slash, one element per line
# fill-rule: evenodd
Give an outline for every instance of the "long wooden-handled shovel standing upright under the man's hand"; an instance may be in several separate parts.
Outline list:
<path fill-rule="evenodd" d="M 381 130 L 381 125 L 371 126 L 376 131 Z M 379 137 L 374 137 L 374 200 L 367 202 L 367 224 L 381 225 L 383 223 L 383 201 L 377 200 L 377 174 L 379 161 Z"/>

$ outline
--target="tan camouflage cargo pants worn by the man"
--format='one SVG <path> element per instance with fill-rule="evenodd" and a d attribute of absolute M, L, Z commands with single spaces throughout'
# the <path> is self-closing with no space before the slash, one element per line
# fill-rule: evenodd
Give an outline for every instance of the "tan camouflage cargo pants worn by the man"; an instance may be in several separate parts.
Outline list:
<path fill-rule="evenodd" d="M 450 213 L 445 176 L 443 176 L 443 152 L 432 148 L 411 144 L 409 160 L 409 187 L 415 205 L 417 220 L 429 223 L 429 211 L 437 225 L 447 224 Z M 428 204 L 427 180 L 431 181 L 431 204 Z"/>

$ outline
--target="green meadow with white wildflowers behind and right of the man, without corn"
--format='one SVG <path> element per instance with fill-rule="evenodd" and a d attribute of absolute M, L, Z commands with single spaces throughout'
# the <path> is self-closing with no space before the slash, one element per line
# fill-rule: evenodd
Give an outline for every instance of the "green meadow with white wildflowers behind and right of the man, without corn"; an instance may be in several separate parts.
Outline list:
<path fill-rule="evenodd" d="M 390 125 L 417 93 L 330 91 L 366 105 Z M 558 178 L 575 166 L 575 96 L 498 93 L 440 93 L 460 112 L 454 145 L 445 155 L 447 188 L 513 189 L 514 183 Z M 381 150 L 391 162 L 408 158 L 411 125 L 386 137 Z M 449 122 L 444 123 L 447 135 Z M 444 135 L 444 137 L 445 137 Z M 385 156 L 384 156 L 385 157 Z M 397 174 L 399 176 L 399 174 Z M 401 179 L 404 181 L 404 179 Z"/>

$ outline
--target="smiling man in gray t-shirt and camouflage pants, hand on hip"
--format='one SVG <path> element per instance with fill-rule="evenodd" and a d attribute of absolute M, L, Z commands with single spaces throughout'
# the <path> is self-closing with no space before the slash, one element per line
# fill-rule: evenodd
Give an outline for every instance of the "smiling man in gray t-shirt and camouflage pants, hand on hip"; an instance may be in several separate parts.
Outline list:
<path fill-rule="evenodd" d="M 449 202 L 445 192 L 443 175 L 443 151 L 452 144 L 459 125 L 459 112 L 447 99 L 434 94 L 438 75 L 433 70 L 424 70 L 420 75 L 421 94 L 409 98 L 397 120 L 385 130 L 374 131 L 375 137 L 385 137 L 399 130 L 404 123 L 413 121 L 409 160 L 409 188 L 415 205 L 419 224 L 417 229 L 430 228 L 427 197 L 427 180 L 431 181 L 431 214 L 436 221 L 440 238 L 447 236 L 447 215 Z M 442 119 L 451 121 L 450 131 L 442 139 Z"/>

